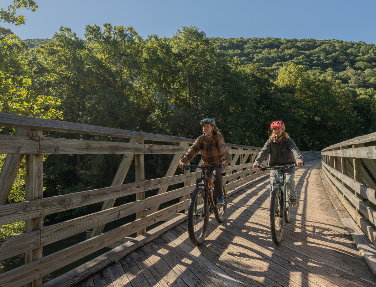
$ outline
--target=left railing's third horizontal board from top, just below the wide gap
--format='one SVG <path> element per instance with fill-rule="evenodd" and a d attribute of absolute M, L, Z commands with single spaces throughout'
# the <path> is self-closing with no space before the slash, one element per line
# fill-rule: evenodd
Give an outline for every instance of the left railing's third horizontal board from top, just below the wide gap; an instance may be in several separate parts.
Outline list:
<path fill-rule="evenodd" d="M 155 178 L 120 186 L 110 186 L 100 189 L 86 190 L 67 195 L 58 195 L 32 201 L 17 202 L 0 206 L 0 225 L 18 222 L 24 219 L 35 218 L 40 215 L 52 214 L 70 210 L 89 204 L 111 200 L 136 192 L 152 190 L 165 184 L 177 184 L 194 178 L 195 174 L 181 174 L 173 177 Z"/>

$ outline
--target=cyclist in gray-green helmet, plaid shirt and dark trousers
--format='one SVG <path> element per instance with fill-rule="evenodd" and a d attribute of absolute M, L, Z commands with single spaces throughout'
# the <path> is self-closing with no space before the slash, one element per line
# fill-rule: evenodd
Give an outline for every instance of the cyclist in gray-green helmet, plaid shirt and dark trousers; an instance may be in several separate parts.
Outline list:
<path fill-rule="evenodd" d="M 224 203 L 222 172 L 227 166 L 229 166 L 229 163 L 231 162 L 230 156 L 226 150 L 223 136 L 215 126 L 214 119 L 203 119 L 200 122 L 200 125 L 202 126 L 203 134 L 197 137 L 192 147 L 180 160 L 179 168 L 183 170 L 184 165 L 188 164 L 200 151 L 204 165 L 215 165 L 221 163 L 222 166 L 220 168 L 212 169 L 209 172 L 209 178 L 211 178 L 214 173 L 214 195 L 218 197 L 217 205 L 222 205 Z"/>

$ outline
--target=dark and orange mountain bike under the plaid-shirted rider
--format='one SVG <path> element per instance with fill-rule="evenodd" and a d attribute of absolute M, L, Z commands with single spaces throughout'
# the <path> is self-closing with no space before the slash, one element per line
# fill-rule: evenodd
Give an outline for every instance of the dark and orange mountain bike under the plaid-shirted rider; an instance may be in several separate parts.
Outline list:
<path fill-rule="evenodd" d="M 188 205 L 188 234 L 193 244 L 200 245 L 204 242 L 209 225 L 209 215 L 214 212 L 215 219 L 223 222 L 227 211 L 227 193 L 223 187 L 223 205 L 217 205 L 214 196 L 214 183 L 208 177 L 206 170 L 221 167 L 217 165 L 184 165 L 184 169 L 201 169 L 201 177 L 196 180 L 196 188 L 191 195 Z"/>

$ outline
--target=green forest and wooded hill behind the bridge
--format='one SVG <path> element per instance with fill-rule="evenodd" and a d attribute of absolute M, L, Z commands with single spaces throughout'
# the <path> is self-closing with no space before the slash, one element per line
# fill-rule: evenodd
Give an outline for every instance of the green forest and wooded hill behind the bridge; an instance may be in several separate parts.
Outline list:
<path fill-rule="evenodd" d="M 373 44 L 208 38 L 192 26 L 143 39 L 111 24 L 86 26 L 85 39 L 68 27 L 29 46 L 9 29 L 0 38 L 0 112 L 191 138 L 212 117 L 226 142 L 258 147 L 278 119 L 313 151 L 375 130 Z M 49 156 L 45 196 L 109 186 L 120 160 Z M 146 161 L 153 178 L 170 164 L 165 155 Z"/>

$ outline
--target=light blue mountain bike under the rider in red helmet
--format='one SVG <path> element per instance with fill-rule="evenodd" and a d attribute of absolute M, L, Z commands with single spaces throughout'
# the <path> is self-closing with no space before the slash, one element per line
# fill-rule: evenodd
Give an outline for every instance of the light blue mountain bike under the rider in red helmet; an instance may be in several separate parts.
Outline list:
<path fill-rule="evenodd" d="M 261 166 L 259 169 L 274 169 L 276 182 L 273 183 L 273 191 L 270 198 L 270 231 L 273 242 L 279 244 L 282 240 L 284 221 L 290 221 L 290 190 L 286 187 L 286 175 L 284 169 L 296 168 L 296 164 L 284 166 Z"/>

